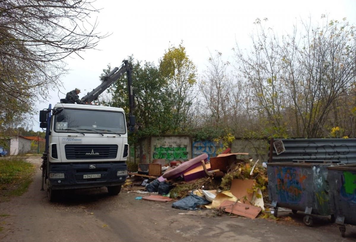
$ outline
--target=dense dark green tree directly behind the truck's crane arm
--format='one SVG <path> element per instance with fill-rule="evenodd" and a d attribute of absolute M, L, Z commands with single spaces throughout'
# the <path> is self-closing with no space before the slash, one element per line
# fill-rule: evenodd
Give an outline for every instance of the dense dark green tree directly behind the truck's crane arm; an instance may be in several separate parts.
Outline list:
<path fill-rule="evenodd" d="M 172 128 L 172 100 L 169 98 L 168 84 L 161 78 L 157 66 L 152 62 L 138 61 L 129 57 L 132 63 L 132 88 L 134 93 L 137 123 L 141 129 L 138 136 L 159 135 Z M 103 70 L 105 75 L 110 72 L 110 66 Z M 111 99 L 102 103 L 112 107 L 121 107 L 129 112 L 127 93 L 127 76 L 121 76 L 108 91 Z"/>

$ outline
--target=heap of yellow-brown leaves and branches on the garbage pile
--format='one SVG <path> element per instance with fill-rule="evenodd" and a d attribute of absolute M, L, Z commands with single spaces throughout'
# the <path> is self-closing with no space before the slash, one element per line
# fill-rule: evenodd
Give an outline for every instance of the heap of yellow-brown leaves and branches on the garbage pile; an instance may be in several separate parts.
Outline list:
<path fill-rule="evenodd" d="M 253 168 L 255 163 L 256 161 L 252 160 L 237 160 L 236 163 L 230 166 L 228 172 L 221 179 L 221 190 L 230 190 L 232 180 L 234 179 L 253 179 L 255 180 L 255 186 L 252 191 L 257 191 L 260 188 L 263 196 L 267 195 L 267 169 L 263 168 L 260 162 L 257 162 L 255 168 Z M 252 168 L 253 172 L 250 175 Z"/>

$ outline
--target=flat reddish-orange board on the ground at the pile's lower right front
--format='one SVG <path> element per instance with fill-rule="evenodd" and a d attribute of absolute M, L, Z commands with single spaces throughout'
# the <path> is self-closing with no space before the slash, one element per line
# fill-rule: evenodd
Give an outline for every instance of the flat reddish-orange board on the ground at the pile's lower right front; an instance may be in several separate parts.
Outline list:
<path fill-rule="evenodd" d="M 245 203 L 236 203 L 234 201 L 224 201 L 219 208 L 224 209 L 226 213 L 232 213 L 250 219 L 255 219 L 257 215 L 262 211 L 261 208 L 248 205 Z"/>

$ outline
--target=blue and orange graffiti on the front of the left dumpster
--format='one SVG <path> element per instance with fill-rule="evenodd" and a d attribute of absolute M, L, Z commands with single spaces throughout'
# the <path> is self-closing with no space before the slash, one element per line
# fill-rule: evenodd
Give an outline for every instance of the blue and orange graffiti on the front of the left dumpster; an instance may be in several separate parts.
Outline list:
<path fill-rule="evenodd" d="M 305 194 L 304 181 L 307 178 L 299 167 L 275 167 L 277 174 L 277 193 L 279 201 L 299 204 Z"/>

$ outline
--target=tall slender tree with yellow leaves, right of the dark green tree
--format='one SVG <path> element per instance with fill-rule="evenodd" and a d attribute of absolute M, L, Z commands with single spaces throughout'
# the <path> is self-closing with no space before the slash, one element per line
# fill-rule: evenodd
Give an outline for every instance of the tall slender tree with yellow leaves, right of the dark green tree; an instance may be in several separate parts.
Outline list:
<path fill-rule="evenodd" d="M 169 86 L 166 90 L 173 103 L 173 125 L 175 132 L 180 132 L 189 127 L 189 109 L 193 105 L 197 69 L 185 52 L 185 47 L 171 46 L 159 61 L 159 72 Z"/>

